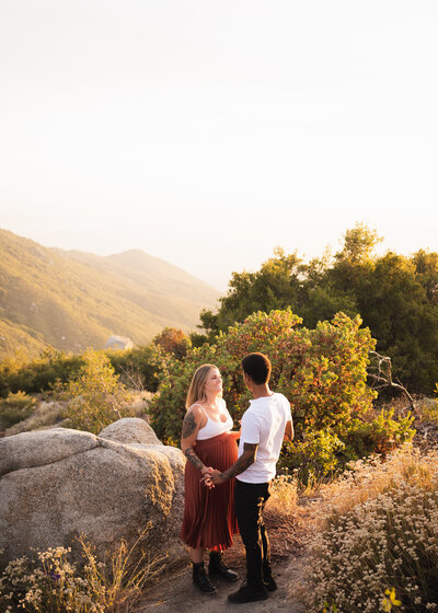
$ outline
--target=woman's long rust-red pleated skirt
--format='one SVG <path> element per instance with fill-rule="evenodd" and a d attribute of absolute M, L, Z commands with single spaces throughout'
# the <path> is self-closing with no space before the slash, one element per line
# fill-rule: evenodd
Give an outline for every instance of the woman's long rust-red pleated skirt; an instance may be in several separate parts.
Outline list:
<path fill-rule="evenodd" d="M 238 459 L 235 439 L 224 432 L 196 441 L 194 451 L 206 466 L 221 473 Z M 181 539 L 191 547 L 222 551 L 231 547 L 239 532 L 234 514 L 234 479 L 208 489 L 192 462 L 185 465 L 185 505 Z"/>

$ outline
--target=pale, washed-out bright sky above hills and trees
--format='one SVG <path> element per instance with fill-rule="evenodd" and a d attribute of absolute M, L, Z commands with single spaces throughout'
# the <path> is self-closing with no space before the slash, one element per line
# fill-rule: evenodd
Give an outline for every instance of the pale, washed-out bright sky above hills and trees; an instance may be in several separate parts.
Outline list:
<path fill-rule="evenodd" d="M 438 251 L 436 0 L 0 0 L 0 227 L 224 290 L 276 245 Z"/>

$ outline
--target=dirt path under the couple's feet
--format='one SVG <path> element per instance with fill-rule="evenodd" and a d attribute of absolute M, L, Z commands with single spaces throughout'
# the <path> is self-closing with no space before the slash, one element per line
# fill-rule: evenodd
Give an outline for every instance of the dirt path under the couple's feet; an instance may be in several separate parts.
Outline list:
<path fill-rule="evenodd" d="M 244 578 L 245 559 L 243 546 L 240 539 L 226 554 L 227 564 L 237 570 L 240 577 Z M 216 595 L 205 595 L 200 593 L 192 583 L 192 569 L 189 566 L 165 574 L 150 592 L 142 597 L 136 608 L 136 613 L 215 613 L 239 610 L 242 613 L 303 613 L 303 606 L 293 599 L 291 585 L 299 578 L 303 558 L 293 554 L 276 555 L 273 552 L 274 575 L 278 583 L 278 590 L 269 593 L 267 600 L 261 602 L 250 602 L 245 604 L 232 604 L 228 602 L 227 595 L 240 587 L 237 583 L 227 583 L 223 580 L 215 579 L 218 593 Z"/>

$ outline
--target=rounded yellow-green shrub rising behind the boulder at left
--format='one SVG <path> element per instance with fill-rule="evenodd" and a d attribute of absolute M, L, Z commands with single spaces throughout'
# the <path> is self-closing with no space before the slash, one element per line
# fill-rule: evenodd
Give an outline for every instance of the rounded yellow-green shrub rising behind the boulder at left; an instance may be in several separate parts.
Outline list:
<path fill-rule="evenodd" d="M 72 428 L 99 433 L 113 421 L 135 415 L 132 398 L 103 352 L 88 349 L 83 358 L 80 375 L 59 389 L 57 397 L 67 403 L 64 416 Z"/>

